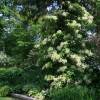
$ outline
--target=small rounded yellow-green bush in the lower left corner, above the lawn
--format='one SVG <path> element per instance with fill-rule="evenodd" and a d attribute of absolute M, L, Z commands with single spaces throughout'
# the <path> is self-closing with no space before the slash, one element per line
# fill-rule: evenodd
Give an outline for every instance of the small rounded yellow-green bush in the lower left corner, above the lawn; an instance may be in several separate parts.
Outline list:
<path fill-rule="evenodd" d="M 11 92 L 11 88 L 7 85 L 0 87 L 0 96 L 8 96 Z"/>

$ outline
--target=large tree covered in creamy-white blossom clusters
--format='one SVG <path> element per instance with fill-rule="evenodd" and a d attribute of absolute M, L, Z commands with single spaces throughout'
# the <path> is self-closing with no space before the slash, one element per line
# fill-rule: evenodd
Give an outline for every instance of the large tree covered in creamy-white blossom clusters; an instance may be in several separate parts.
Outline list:
<path fill-rule="evenodd" d="M 88 74 L 91 68 L 86 62 L 93 54 L 86 38 L 93 16 L 78 2 L 65 1 L 39 22 L 40 39 L 30 58 L 37 57 L 35 64 L 41 66 L 48 84 L 62 87 L 70 83 L 91 83 Z"/>

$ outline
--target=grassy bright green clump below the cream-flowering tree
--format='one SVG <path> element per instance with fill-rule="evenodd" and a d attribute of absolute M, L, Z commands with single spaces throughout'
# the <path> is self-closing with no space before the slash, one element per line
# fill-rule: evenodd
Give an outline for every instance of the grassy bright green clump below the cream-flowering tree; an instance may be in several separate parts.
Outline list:
<path fill-rule="evenodd" d="M 66 87 L 50 91 L 49 100 L 96 100 L 96 96 L 86 87 Z"/>

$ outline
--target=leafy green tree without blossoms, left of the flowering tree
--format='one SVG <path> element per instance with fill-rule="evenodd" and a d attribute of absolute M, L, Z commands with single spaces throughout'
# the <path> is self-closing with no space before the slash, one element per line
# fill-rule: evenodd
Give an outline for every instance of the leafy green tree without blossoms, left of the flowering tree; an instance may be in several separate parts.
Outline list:
<path fill-rule="evenodd" d="M 26 20 L 28 15 L 21 14 L 24 7 L 15 1 L 0 1 L 0 47 L 20 64 L 32 49 L 38 30 L 36 23 Z"/>

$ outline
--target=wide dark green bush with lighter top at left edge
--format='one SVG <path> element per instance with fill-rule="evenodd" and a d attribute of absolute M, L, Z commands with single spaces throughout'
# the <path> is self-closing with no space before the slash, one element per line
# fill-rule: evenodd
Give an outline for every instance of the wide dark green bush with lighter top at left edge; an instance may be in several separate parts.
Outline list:
<path fill-rule="evenodd" d="M 4 84 L 20 84 L 22 82 L 22 69 L 17 67 L 0 68 L 0 82 Z"/>

